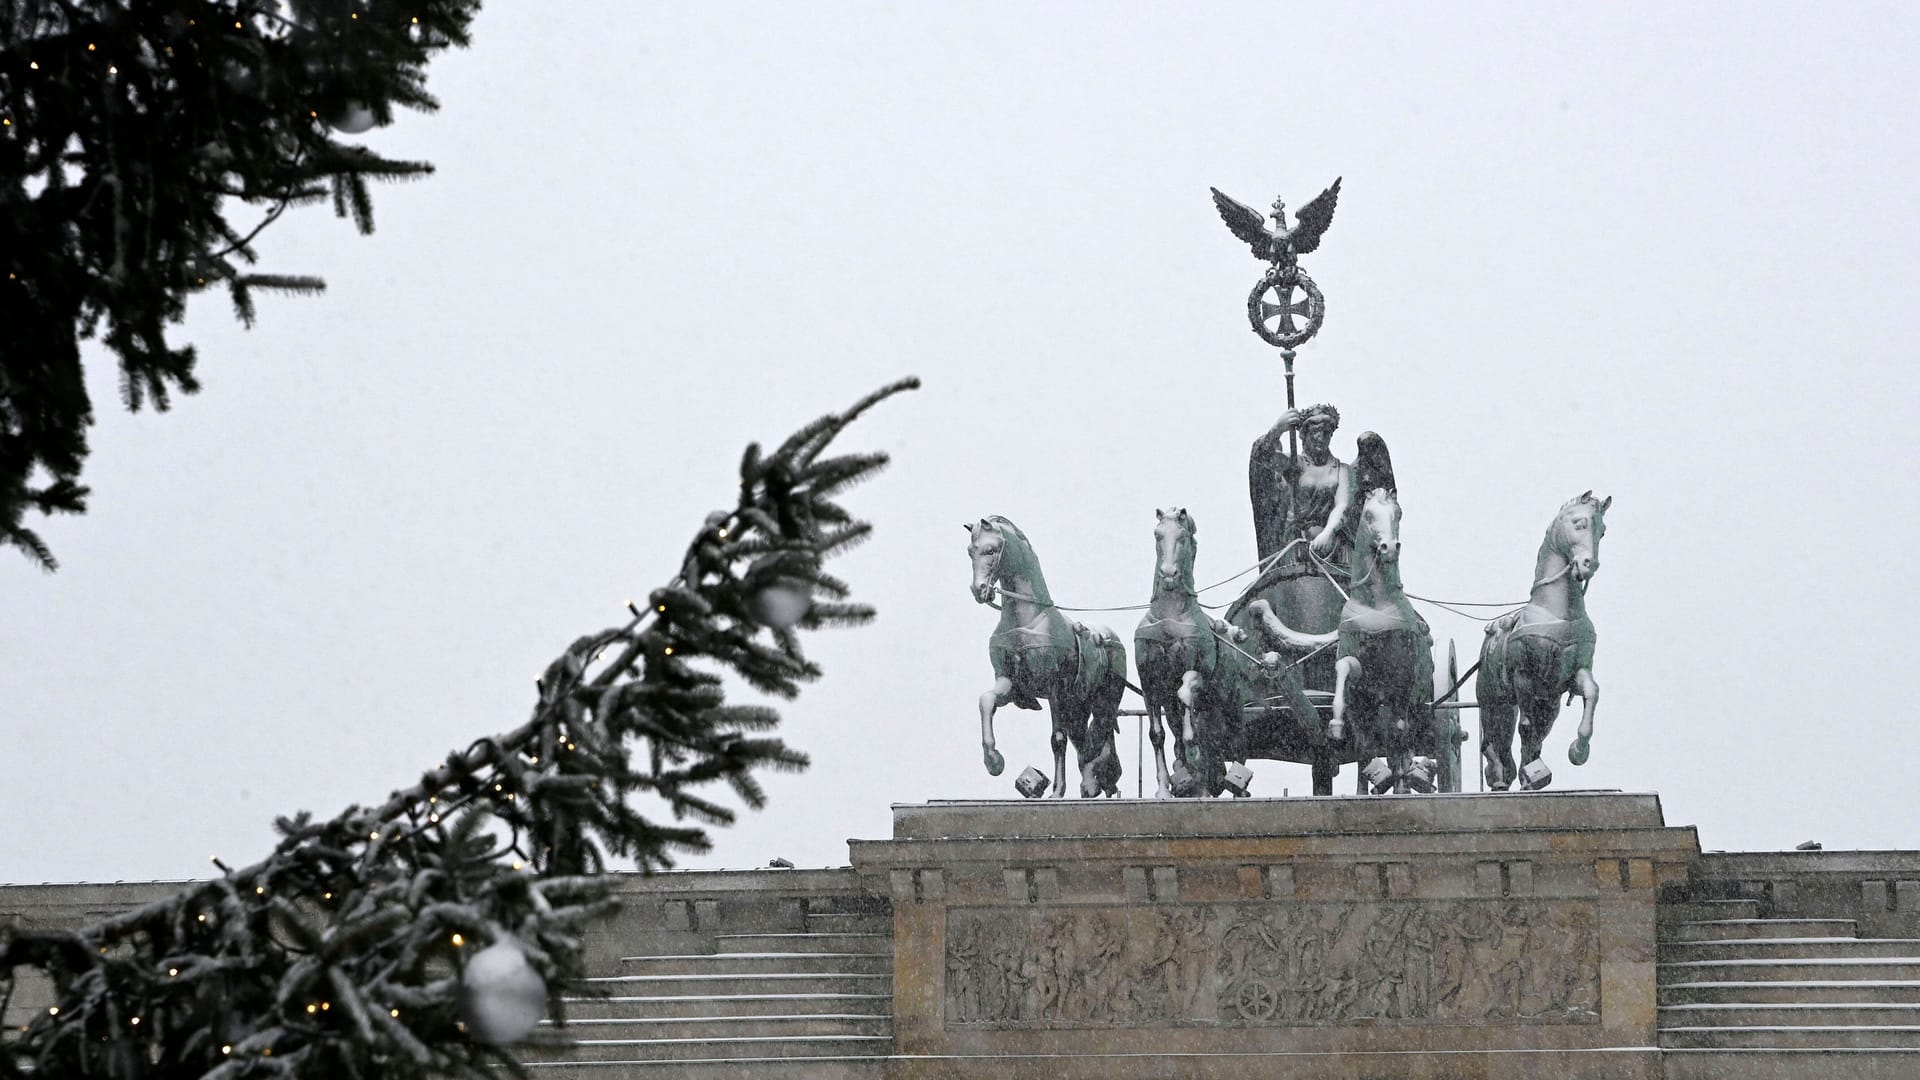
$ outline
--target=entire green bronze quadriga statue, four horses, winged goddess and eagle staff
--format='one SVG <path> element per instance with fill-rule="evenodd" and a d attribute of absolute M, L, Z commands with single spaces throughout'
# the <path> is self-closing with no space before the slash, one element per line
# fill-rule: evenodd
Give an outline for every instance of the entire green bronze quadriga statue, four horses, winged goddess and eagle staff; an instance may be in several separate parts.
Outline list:
<path fill-rule="evenodd" d="M 1041 700 L 1050 701 L 1054 719 L 1054 796 L 1066 794 L 1068 746 L 1079 757 L 1083 796 L 1119 794 L 1121 715 L 1144 721 L 1139 757 L 1150 738 L 1162 798 L 1246 796 L 1250 759 L 1309 765 L 1317 796 L 1332 794 L 1348 763 L 1359 767 L 1361 794 L 1459 792 L 1463 709 L 1480 713 L 1486 786 L 1505 790 L 1521 780 L 1542 788 L 1551 782 L 1542 746 L 1561 694 L 1584 701 L 1569 759 L 1586 763 L 1599 688 L 1584 594 L 1599 567 L 1611 500 L 1586 492 L 1561 505 L 1542 540 L 1528 600 L 1486 619 L 1480 659 L 1465 675 L 1448 644 L 1444 676 L 1436 678 L 1432 632 L 1411 603 L 1421 598 L 1400 580 L 1400 500 L 1386 440 L 1363 432 L 1348 465 L 1331 454 L 1338 409 L 1294 407 L 1294 346 L 1309 340 L 1325 317 L 1325 298 L 1296 259 L 1319 246 L 1338 192 L 1334 181 L 1300 209 L 1292 229 L 1275 200 L 1269 229 L 1260 211 L 1213 190 L 1227 227 L 1269 263 L 1248 296 L 1248 321 L 1263 342 L 1281 348 L 1286 413 L 1248 455 L 1260 563 L 1196 588 L 1198 525 L 1185 507 L 1162 507 L 1152 598 L 1098 609 L 1144 611 L 1133 634 L 1139 684 L 1125 676 L 1117 634 L 1077 623 L 1071 613 L 1089 609 L 1052 600 L 1020 527 L 1004 517 L 966 527 L 973 596 L 1000 607 L 989 640 L 995 684 L 979 700 L 989 773 L 1004 769 L 995 749 L 995 711 L 1008 703 L 1037 709 Z M 1252 582 L 1236 596 L 1215 598 L 1225 603 L 1202 601 L 1202 594 L 1246 575 L 1254 575 Z M 1461 701 L 1461 686 L 1471 675 L 1478 680 L 1476 701 L 1469 703 Z M 1125 690 L 1140 698 L 1139 709 L 1121 709 Z M 1515 763 L 1515 734 L 1524 765 Z M 1144 794 L 1144 763 L 1139 769 L 1137 792 Z M 1029 798 L 1044 788 L 1037 771 L 1020 784 Z M 1250 982 L 1246 992 L 1252 997 L 1236 1007 L 1258 1011 L 1258 986 Z"/>

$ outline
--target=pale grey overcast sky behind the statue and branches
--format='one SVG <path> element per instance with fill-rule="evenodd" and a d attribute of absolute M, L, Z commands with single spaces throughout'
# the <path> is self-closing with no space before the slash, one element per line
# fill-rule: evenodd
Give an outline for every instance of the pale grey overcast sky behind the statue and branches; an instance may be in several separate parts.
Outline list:
<path fill-rule="evenodd" d="M 371 238 L 267 233 L 324 298 L 198 302 L 167 415 L 92 354 L 92 511 L 42 528 L 58 575 L 0 561 L 0 880 L 250 861 L 522 723 L 747 440 L 906 373 L 845 436 L 895 455 L 837 565 L 881 617 L 814 638 L 814 767 L 697 865 L 1012 796 L 1046 721 L 1004 709 L 985 774 L 958 525 L 1018 521 L 1071 605 L 1146 600 L 1158 505 L 1202 580 L 1252 563 L 1284 394 L 1208 184 L 1336 175 L 1300 394 L 1342 457 L 1390 444 L 1407 586 L 1524 598 L 1561 502 L 1615 498 L 1594 755 L 1569 709 L 1555 784 L 1655 790 L 1707 847 L 1914 847 L 1914 56 L 1897 4 L 490 4 L 444 111 L 372 136 L 438 175 Z"/>

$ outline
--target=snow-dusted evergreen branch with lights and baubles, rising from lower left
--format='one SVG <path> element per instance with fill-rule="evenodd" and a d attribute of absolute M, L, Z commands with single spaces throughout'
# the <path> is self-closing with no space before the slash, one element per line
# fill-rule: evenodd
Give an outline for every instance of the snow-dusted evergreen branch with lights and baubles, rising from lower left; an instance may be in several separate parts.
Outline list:
<path fill-rule="evenodd" d="M 468 1030 L 470 957 L 493 945 L 524 957 L 557 1009 L 582 974 L 580 930 L 612 905 L 609 857 L 670 867 L 733 819 L 707 794 L 714 784 L 760 807 L 758 771 L 806 765 L 772 734 L 774 709 L 726 701 L 722 673 L 791 698 L 820 675 L 801 630 L 872 619 L 822 567 L 870 532 L 839 496 L 887 457 L 824 454 L 916 384 L 885 386 L 770 454 L 749 446 L 733 509 L 707 517 L 680 573 L 645 607 L 630 603 L 632 619 L 547 665 L 513 732 L 449 753 L 380 805 L 280 819 L 265 861 L 221 865 L 169 899 L 77 932 L 0 926 L 0 1015 L 21 972 L 42 972 L 58 995 L 0 1038 L 0 1078 L 520 1072 Z"/>

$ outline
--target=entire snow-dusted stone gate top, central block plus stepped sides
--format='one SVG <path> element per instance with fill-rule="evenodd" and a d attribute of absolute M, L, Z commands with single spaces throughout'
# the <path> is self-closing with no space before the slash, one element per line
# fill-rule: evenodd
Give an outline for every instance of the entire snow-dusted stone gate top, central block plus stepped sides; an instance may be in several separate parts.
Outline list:
<path fill-rule="evenodd" d="M 877 1057 L 793 1072 L 799 1057 L 776 1053 L 849 1051 L 824 1036 L 820 1045 L 768 1038 L 768 1020 L 741 1017 L 737 1030 L 753 1038 L 728 1051 L 739 1055 L 732 1072 L 710 1072 L 730 1080 L 1878 1080 L 1920 1061 L 1920 1049 L 1891 1049 L 1908 1042 L 1887 1042 L 1912 1020 L 1818 1020 L 1880 1026 L 1807 1028 L 1855 1032 L 1822 1036 L 1839 1049 L 1755 1051 L 1741 1047 L 1782 1038 L 1770 1034 L 1782 1020 L 1728 1015 L 1707 1030 L 1688 1013 L 1724 1013 L 1736 1007 L 1697 1001 L 1736 997 L 1764 1003 L 1738 1005 L 1745 1011 L 1853 1007 L 1859 995 L 1832 982 L 1851 976 L 1786 969 L 1912 965 L 1899 957 L 1920 953 L 1878 938 L 1920 938 L 1920 851 L 1703 855 L 1693 830 L 1667 826 L 1645 794 L 952 801 L 895 807 L 891 840 L 851 849 L 854 865 L 843 869 L 620 874 L 624 903 L 589 934 L 588 967 L 628 976 L 595 982 L 645 982 L 705 955 L 714 974 L 701 978 L 712 988 L 697 994 L 764 994 L 747 986 L 756 976 L 724 972 L 758 970 L 774 963 L 762 953 L 789 949 L 806 963 L 781 978 L 864 980 L 854 995 L 872 999 L 872 1017 L 780 1022 L 843 1022 Z M 186 884 L 0 886 L 0 926 L 77 928 Z M 1855 924 L 1866 940 L 1853 940 Z M 820 961 L 889 945 L 891 961 L 841 965 L 862 974 Z M 1724 963 L 1720 953 L 1782 967 L 1726 978 L 1828 982 L 1809 984 L 1814 994 L 1693 970 Z M 885 963 L 891 978 L 876 974 Z M 1740 986 L 1759 990 L 1728 997 Z M 639 1009 L 632 1001 L 672 1001 L 662 992 L 682 994 L 620 988 L 643 997 L 574 1005 L 591 1024 L 572 1038 L 605 1040 L 618 1024 L 630 1036 L 662 1024 L 720 1030 L 712 1019 L 676 1019 L 708 1017 L 708 1003 L 622 1019 Z M 46 1007 L 44 997 L 27 982 L 8 1013 Z M 1859 999 L 1870 1003 L 1859 1009 L 1897 1007 Z M 703 1034 L 687 1030 L 676 1038 Z M 666 1036 L 641 1049 L 662 1059 L 655 1065 L 689 1053 Z M 641 1049 L 582 1042 L 578 1053 Z M 536 1065 L 545 1076 L 589 1067 L 612 1076 L 611 1061 L 551 1055 Z"/>

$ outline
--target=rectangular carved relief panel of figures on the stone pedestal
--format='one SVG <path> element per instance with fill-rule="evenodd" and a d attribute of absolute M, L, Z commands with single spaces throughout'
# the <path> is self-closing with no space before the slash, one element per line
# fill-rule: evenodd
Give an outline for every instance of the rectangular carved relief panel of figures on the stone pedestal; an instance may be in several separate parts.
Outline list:
<path fill-rule="evenodd" d="M 1584 903 L 947 911 L 948 1028 L 1597 1024 Z"/>

